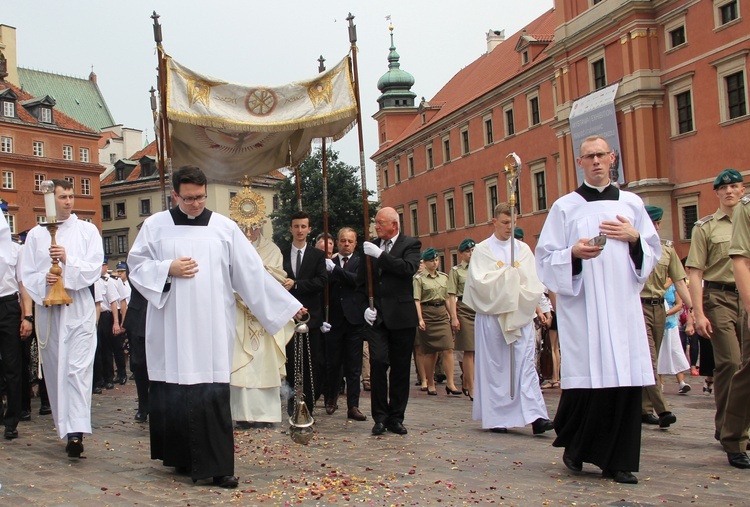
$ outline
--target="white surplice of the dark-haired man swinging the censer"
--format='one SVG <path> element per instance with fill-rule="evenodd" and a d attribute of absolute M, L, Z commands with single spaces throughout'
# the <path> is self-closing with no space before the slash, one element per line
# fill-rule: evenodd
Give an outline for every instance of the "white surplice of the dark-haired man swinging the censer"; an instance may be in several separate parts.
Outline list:
<path fill-rule="evenodd" d="M 171 278 L 174 259 L 198 264 L 193 278 Z M 260 324 L 277 333 L 302 305 L 264 269 L 237 224 L 212 213 L 207 226 L 175 225 L 169 211 L 143 223 L 128 255 L 130 282 L 148 300 L 149 379 L 172 384 L 229 383 L 236 291 Z"/>

